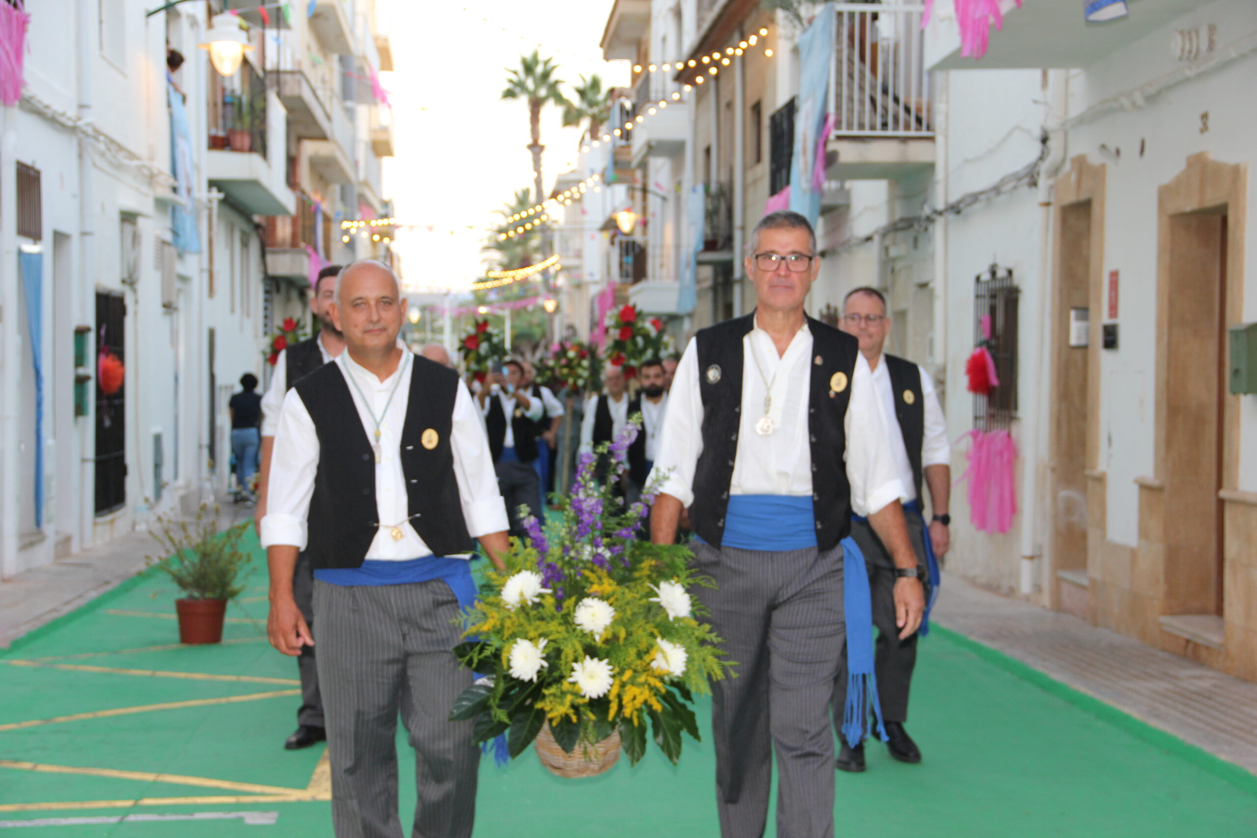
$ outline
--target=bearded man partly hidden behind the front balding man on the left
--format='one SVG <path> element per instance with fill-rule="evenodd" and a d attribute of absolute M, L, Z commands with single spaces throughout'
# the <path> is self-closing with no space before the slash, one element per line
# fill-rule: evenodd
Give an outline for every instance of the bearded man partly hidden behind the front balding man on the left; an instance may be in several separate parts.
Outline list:
<path fill-rule="evenodd" d="M 284 406 L 284 396 L 300 378 L 331 363 L 344 352 L 344 335 L 332 322 L 331 307 L 336 300 L 336 278 L 341 265 L 328 265 L 318 273 L 314 280 L 314 295 L 310 298 L 310 310 L 319 322 L 319 332 L 312 338 L 299 340 L 279 353 L 275 368 L 270 376 L 270 388 L 261 400 L 261 469 L 258 472 L 258 508 L 254 511 L 254 525 L 261 533 L 261 519 L 266 515 L 266 491 L 270 484 L 270 456 L 275 447 L 275 430 L 279 427 L 279 411 Z M 307 626 L 314 624 L 314 574 L 309 557 L 303 552 L 297 559 L 293 573 L 293 593 L 297 607 L 302 609 Z M 314 647 L 302 647 L 297 658 L 297 668 L 302 677 L 302 706 L 297 710 L 297 730 L 284 743 L 288 750 L 309 748 L 327 739 L 323 725 L 323 700 L 318 690 L 318 670 L 314 665 Z"/>

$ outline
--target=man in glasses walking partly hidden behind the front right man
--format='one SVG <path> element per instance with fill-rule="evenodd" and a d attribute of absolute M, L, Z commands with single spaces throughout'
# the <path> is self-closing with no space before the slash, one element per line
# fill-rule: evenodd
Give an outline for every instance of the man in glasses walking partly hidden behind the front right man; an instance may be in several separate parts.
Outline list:
<path fill-rule="evenodd" d="M 884 354 L 882 347 L 890 334 L 890 317 L 886 298 L 875 288 L 857 288 L 842 302 L 842 330 L 860 340 L 860 354 L 872 369 L 872 383 L 890 422 L 891 449 L 895 470 L 905 487 L 904 511 L 908 515 L 908 534 L 913 543 L 919 567 L 928 569 L 930 602 L 938 594 L 938 563 L 948 550 L 948 501 L 952 486 L 952 451 L 947 438 L 947 421 L 934 392 L 934 379 L 911 361 Z M 929 528 L 921 516 L 921 484 L 930 487 Z M 851 524 L 851 536 L 860 545 L 869 569 L 869 587 L 872 592 L 872 619 L 877 626 L 875 670 L 877 692 L 881 699 L 882 719 L 886 725 L 886 748 L 901 763 L 920 763 L 921 751 L 904 730 L 908 720 L 908 690 L 916 666 L 916 634 L 896 637 L 895 563 L 877 533 L 862 518 Z M 926 609 L 926 616 L 929 609 Z M 928 631 L 928 623 L 921 626 Z M 847 672 L 846 650 L 842 670 L 835 681 L 835 721 L 841 729 L 838 709 L 846 700 Z M 862 744 L 842 741 L 838 769 L 864 771 Z"/>

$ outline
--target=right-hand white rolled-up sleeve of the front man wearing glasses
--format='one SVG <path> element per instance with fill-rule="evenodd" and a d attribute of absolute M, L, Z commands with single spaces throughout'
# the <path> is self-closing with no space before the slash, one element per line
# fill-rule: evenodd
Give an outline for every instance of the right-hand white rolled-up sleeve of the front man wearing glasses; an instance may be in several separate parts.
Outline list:
<path fill-rule="evenodd" d="M 890 426 L 864 356 L 851 376 L 851 401 L 843 418 L 847 436 L 847 481 L 851 511 L 867 518 L 887 504 L 904 499 L 904 481 L 895 472 Z"/>

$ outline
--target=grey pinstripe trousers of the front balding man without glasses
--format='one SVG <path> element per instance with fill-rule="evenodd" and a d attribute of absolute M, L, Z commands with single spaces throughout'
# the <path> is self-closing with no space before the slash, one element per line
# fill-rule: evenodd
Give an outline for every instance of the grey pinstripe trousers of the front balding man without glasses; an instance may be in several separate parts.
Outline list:
<path fill-rule="evenodd" d="M 480 750 L 471 721 L 446 721 L 473 677 L 453 652 L 458 616 L 458 599 L 440 579 L 378 587 L 314 580 L 337 838 L 402 838 L 398 714 L 415 749 L 412 837 L 471 834 Z"/>

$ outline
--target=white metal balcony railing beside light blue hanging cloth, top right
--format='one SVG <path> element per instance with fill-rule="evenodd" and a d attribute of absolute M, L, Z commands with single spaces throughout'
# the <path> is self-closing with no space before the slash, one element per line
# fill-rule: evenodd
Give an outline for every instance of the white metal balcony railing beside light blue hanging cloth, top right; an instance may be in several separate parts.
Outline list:
<path fill-rule="evenodd" d="M 833 136 L 933 136 L 921 6 L 847 3 L 836 10 L 837 49 L 830 65 Z"/>

